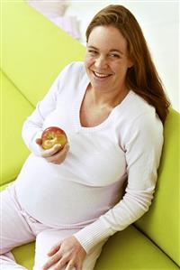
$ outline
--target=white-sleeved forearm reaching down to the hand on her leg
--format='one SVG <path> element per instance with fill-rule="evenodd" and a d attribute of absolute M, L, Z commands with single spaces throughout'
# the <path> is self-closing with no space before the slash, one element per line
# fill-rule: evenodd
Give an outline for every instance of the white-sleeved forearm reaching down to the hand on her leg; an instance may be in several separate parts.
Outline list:
<path fill-rule="evenodd" d="M 123 199 L 112 209 L 75 234 L 86 252 L 115 232 L 127 228 L 148 211 L 153 199 L 153 187 L 148 191 L 126 191 Z"/>

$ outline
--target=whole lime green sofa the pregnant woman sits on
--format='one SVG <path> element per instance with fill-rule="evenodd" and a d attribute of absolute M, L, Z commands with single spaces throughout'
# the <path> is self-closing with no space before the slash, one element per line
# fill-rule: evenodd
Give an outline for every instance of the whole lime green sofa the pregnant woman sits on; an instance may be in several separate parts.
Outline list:
<path fill-rule="evenodd" d="M 14 181 L 29 154 L 23 121 L 70 61 L 85 47 L 24 1 L 1 1 L 1 190 Z M 169 74 L 170 75 L 170 74 Z M 95 270 L 179 269 L 179 126 L 173 109 L 166 118 L 165 144 L 155 199 L 141 219 L 110 237 Z M 20 232 L 21 233 L 21 232 Z M 32 269 L 34 243 L 14 248 L 19 264 Z"/>

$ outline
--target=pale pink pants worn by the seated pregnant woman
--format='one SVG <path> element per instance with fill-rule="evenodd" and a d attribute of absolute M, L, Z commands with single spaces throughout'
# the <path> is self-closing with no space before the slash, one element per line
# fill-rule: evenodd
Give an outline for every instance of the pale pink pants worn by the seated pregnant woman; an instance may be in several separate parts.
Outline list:
<path fill-rule="evenodd" d="M 14 191 L 14 184 L 0 192 L 0 269 L 25 269 L 17 265 L 11 250 L 36 239 L 33 270 L 40 270 L 48 260 L 47 253 L 60 239 L 71 236 L 77 229 L 49 228 L 31 218 L 20 206 Z M 83 270 L 92 270 L 100 256 L 105 241 L 95 246 L 85 257 Z"/>

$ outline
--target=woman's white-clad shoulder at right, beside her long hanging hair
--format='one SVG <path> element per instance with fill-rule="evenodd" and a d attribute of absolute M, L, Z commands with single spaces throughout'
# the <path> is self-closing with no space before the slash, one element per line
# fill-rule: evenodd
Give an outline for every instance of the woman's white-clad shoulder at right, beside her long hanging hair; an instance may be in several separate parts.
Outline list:
<path fill-rule="evenodd" d="M 155 107 L 148 104 L 146 100 L 130 91 L 116 115 L 121 143 L 135 142 L 149 143 L 150 140 L 162 141 L 163 124 L 157 116 Z"/>

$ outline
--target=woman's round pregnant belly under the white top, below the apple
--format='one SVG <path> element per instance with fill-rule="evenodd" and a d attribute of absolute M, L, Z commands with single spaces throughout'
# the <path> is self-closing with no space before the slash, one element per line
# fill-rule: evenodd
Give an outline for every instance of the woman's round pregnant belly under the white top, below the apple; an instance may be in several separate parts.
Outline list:
<path fill-rule="evenodd" d="M 60 228 L 93 222 L 112 207 L 119 190 L 119 182 L 105 187 L 76 182 L 60 173 L 60 166 L 55 173 L 51 164 L 32 155 L 16 180 L 17 197 L 23 209 L 34 219 Z"/>

